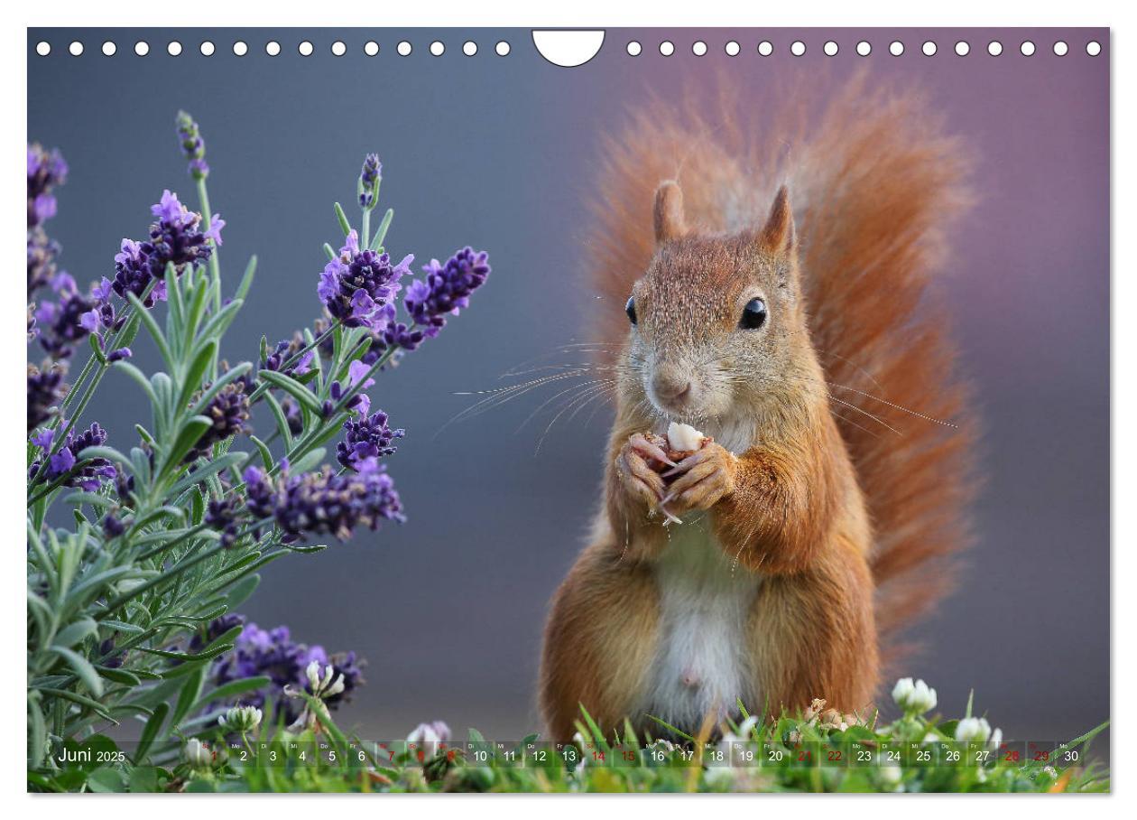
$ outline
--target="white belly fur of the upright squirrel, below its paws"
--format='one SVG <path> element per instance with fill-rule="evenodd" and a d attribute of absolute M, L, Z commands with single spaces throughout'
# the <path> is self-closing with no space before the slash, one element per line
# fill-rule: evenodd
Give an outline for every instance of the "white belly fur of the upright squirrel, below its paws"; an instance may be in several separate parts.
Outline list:
<path fill-rule="evenodd" d="M 655 565 L 659 638 L 642 713 L 687 731 L 714 710 L 758 703 L 746 660 L 746 622 L 761 577 L 737 565 L 709 531 L 705 514 L 669 527 Z"/>

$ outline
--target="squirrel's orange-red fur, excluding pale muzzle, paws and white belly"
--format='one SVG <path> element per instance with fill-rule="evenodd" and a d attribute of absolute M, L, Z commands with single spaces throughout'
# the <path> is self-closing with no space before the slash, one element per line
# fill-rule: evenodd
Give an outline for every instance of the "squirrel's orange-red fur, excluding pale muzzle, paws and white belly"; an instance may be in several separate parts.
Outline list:
<path fill-rule="evenodd" d="M 597 331 L 608 365 L 626 362 L 623 307 L 646 271 L 637 301 L 673 312 L 667 326 L 681 329 L 673 339 L 641 329 L 661 356 L 737 321 L 736 268 L 799 288 L 785 308 L 796 332 L 782 342 L 777 409 L 754 408 L 760 444 L 723 456 L 715 474 L 729 473 L 729 491 L 694 508 L 708 511 L 722 549 L 763 579 L 748 663 L 771 709 L 824 697 L 852 711 L 872 697 L 878 656 L 889 659 L 899 630 L 946 591 L 949 557 L 969 539 L 968 390 L 928 288 L 945 227 L 968 202 L 966 164 L 913 94 L 871 91 L 863 77 L 816 122 L 802 110 L 764 107 L 753 129 L 730 110 L 711 119 L 641 110 L 600 167 L 589 268 L 604 296 Z M 805 139 L 787 147 L 797 133 Z M 655 196 L 671 179 L 674 190 Z M 785 193 L 774 197 L 782 183 L 792 218 Z M 625 715 L 642 724 L 626 710 L 659 639 L 652 566 L 666 535 L 629 489 L 624 458 L 629 436 L 655 420 L 631 376 L 621 379 L 606 504 L 546 630 L 541 702 L 557 739 L 572 734 L 580 703 L 603 726 Z"/>

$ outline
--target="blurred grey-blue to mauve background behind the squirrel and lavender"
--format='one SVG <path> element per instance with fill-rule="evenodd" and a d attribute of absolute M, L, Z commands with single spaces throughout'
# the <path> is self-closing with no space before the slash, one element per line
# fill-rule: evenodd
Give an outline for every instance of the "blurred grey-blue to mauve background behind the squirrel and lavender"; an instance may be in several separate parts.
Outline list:
<path fill-rule="evenodd" d="M 297 53 L 305 39 L 312 57 Z M 404 39 L 408 57 L 396 53 Z M 624 52 L 633 39 L 645 47 L 637 58 Z M 666 59 L 664 39 L 677 44 Z M 732 39 L 735 58 L 722 51 Z M 805 56 L 790 57 L 795 39 Z M 829 39 L 836 57 L 822 53 Z M 869 58 L 854 51 L 861 39 Z M 904 56 L 888 55 L 894 39 Z M 936 57 L 920 52 L 928 39 Z M 1001 57 L 987 53 L 993 39 Z M 1019 53 L 1028 39 L 1032 57 Z M 1060 39 L 1064 57 L 1051 49 Z M 34 53 L 40 40 L 47 58 Z M 67 53 L 72 40 L 82 57 Z M 103 40 L 116 56 L 100 53 Z M 138 40 L 149 56 L 134 55 Z M 182 56 L 167 56 L 171 40 Z M 199 53 L 202 40 L 214 56 Z M 247 56 L 233 55 L 236 40 Z M 280 56 L 265 55 L 269 40 Z M 335 40 L 346 56 L 330 52 Z M 364 55 L 367 40 L 377 57 Z M 443 56 L 431 56 L 432 40 Z M 465 40 L 475 57 L 463 56 Z M 493 52 L 499 40 L 507 57 Z M 691 55 L 695 40 L 706 56 Z M 760 40 L 774 56 L 756 53 Z M 953 52 L 957 40 L 970 56 Z M 1101 56 L 1086 55 L 1089 40 Z M 382 157 L 381 205 L 396 209 L 392 255 L 425 262 L 465 243 L 491 254 L 471 309 L 371 391 L 407 429 L 390 470 L 409 522 L 273 564 L 246 607 L 260 626 L 288 623 L 301 640 L 367 659 L 368 685 L 345 722 L 371 738 L 434 719 L 503 739 L 539 726 L 541 626 L 597 504 L 609 411 L 566 413 L 536 455 L 557 401 L 518 426 L 554 389 L 441 429 L 473 401 L 457 391 L 516 383 L 503 374 L 583 338 L 596 297 L 576 242 L 599 136 L 647 92 L 666 99 L 722 69 L 760 89 L 868 63 L 873 76 L 918 84 L 980 160 L 982 200 L 945 288 L 978 386 L 987 488 L 962 586 L 919 629 L 926 651 L 908 673 L 948 713 L 973 687 L 977 709 L 1010 738 L 1067 739 L 1109 715 L 1109 32 L 609 30 L 600 55 L 573 69 L 545 61 L 523 30 L 31 30 L 28 44 L 28 139 L 70 164 L 48 230 L 81 284 L 113 273 L 119 240 L 144 234 L 163 188 L 194 202 L 174 116 L 185 108 L 201 124 L 231 287 L 250 254 L 260 259 L 230 361 L 318 314 L 321 245 L 341 235 L 331 204 L 354 200 L 366 151 Z M 153 365 L 139 348 L 136 363 Z M 111 378 L 90 417 L 126 446 L 141 406 L 133 384 Z"/>

